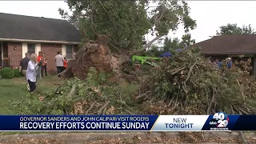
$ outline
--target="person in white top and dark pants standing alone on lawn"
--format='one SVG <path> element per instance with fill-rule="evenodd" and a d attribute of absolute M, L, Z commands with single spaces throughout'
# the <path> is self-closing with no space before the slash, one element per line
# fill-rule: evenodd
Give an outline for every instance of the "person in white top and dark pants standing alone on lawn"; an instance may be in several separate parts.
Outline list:
<path fill-rule="evenodd" d="M 36 54 L 31 54 L 30 55 L 30 62 L 28 62 L 28 66 L 26 69 L 26 80 L 29 83 L 30 86 L 30 93 L 33 93 L 34 90 L 36 89 L 36 73 L 37 73 L 37 56 Z"/>

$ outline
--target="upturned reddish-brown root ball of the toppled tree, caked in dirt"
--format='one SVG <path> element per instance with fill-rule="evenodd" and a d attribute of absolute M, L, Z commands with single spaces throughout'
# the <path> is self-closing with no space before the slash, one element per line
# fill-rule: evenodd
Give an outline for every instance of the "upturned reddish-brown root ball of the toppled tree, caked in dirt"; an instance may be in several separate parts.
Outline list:
<path fill-rule="evenodd" d="M 106 73 L 118 70 L 118 58 L 111 54 L 107 42 L 107 35 L 99 35 L 96 42 L 86 43 L 75 55 L 75 60 L 69 62 L 66 78 L 86 79 L 90 67 Z"/>

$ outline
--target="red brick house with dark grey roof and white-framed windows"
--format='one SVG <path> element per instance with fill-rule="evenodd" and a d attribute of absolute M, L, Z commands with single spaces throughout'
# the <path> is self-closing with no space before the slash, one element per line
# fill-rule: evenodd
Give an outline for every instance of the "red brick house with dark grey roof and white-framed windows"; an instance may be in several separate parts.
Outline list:
<path fill-rule="evenodd" d="M 80 43 L 79 30 L 66 20 L 0 13 L 0 67 L 18 67 L 26 52 L 42 51 L 47 69 L 56 71 L 57 52 L 72 59 Z"/>

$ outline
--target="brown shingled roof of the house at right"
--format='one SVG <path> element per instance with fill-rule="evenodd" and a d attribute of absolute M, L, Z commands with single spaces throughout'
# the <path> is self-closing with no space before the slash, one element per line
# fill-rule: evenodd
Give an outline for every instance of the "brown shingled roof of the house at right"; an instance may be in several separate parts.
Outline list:
<path fill-rule="evenodd" d="M 194 46 L 201 47 L 202 54 L 256 54 L 256 35 L 221 35 Z"/>

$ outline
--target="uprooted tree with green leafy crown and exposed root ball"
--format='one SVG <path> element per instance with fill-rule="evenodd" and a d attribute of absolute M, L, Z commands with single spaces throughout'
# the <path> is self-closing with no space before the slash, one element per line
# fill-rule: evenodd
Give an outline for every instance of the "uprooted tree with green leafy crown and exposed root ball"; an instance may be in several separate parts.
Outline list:
<path fill-rule="evenodd" d="M 187 3 L 181 1 L 154 1 L 155 6 L 150 6 L 149 1 L 70 0 L 67 3 L 73 13 L 68 15 L 61 9 L 59 12 L 81 30 L 83 38 L 82 49 L 76 56 L 78 59 L 71 62 L 73 70 L 69 70 L 82 79 L 86 78 L 86 71 L 91 66 L 96 70 L 105 67 L 108 72 L 118 71 L 118 76 L 123 76 L 119 72 L 120 66 L 130 62 L 130 54 L 146 50 L 170 30 L 177 30 L 181 23 L 186 32 L 196 26 L 190 18 Z M 148 33 L 156 37 L 143 46 L 144 35 Z M 105 40 L 102 34 L 106 35 Z M 105 44 L 102 41 L 106 41 Z M 104 64 L 99 64 L 102 62 Z M 130 75 L 125 78 L 136 79 Z"/>

